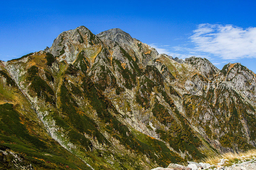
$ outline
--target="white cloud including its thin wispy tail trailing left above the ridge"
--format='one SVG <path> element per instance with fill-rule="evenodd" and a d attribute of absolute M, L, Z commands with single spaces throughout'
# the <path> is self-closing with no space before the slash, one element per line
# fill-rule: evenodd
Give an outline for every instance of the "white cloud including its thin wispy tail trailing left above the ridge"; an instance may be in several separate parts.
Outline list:
<path fill-rule="evenodd" d="M 186 36 L 188 41 L 176 46 L 157 43 L 149 45 L 160 54 L 179 58 L 204 57 L 215 65 L 235 62 L 241 58 L 256 58 L 256 27 L 200 24 L 192 35 Z"/>

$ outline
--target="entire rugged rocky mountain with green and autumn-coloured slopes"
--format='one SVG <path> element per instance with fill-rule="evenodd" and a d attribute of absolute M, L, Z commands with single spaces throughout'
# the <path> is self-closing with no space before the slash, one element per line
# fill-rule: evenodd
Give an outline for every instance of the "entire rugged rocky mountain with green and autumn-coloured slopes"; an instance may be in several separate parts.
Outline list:
<path fill-rule="evenodd" d="M 256 147 L 255 73 L 118 28 L 64 31 L 0 75 L 3 168 L 151 169 Z"/>

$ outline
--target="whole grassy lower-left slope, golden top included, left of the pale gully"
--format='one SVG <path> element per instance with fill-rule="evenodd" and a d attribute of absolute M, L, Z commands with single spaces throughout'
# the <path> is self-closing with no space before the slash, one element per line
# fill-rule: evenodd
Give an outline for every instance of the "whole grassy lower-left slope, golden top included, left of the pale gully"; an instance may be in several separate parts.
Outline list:
<path fill-rule="evenodd" d="M 35 169 L 88 169 L 84 162 L 47 134 L 27 98 L 3 79 L 0 81 L 0 103 L 1 146 L 20 154 L 24 164 L 32 164 Z M 8 164 L 13 165 L 11 159 Z"/>

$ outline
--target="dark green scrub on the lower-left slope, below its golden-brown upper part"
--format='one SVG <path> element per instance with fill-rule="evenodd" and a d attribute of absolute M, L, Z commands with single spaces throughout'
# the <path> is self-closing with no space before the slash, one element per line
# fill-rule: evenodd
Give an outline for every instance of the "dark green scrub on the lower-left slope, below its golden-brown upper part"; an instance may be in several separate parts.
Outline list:
<path fill-rule="evenodd" d="M 30 120 L 21 117 L 19 112 L 14 110 L 13 104 L 0 105 L 0 139 L 1 150 L 12 150 L 22 159 L 19 162 L 22 166 L 32 165 L 34 169 L 87 169 L 88 166 L 71 155 L 54 140 L 45 139 L 45 136 L 31 133 L 27 125 Z M 24 122 L 25 121 L 25 122 Z M 38 128 L 32 122 L 34 128 Z M 40 127 L 42 128 L 42 127 Z M 50 138 L 50 136 L 48 136 Z M 3 161 L 5 159 L 5 161 Z M 3 155 L 0 152 L 0 167 L 15 168 L 12 163 L 13 156 Z M 3 163 L 3 164 L 2 164 Z"/>

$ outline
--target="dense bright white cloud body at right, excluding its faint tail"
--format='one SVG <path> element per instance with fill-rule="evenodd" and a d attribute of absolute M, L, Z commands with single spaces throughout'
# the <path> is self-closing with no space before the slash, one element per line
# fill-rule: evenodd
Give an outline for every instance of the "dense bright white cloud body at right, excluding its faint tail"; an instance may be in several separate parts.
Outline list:
<path fill-rule="evenodd" d="M 256 27 L 200 24 L 190 39 L 194 50 L 223 59 L 256 58 Z"/>

